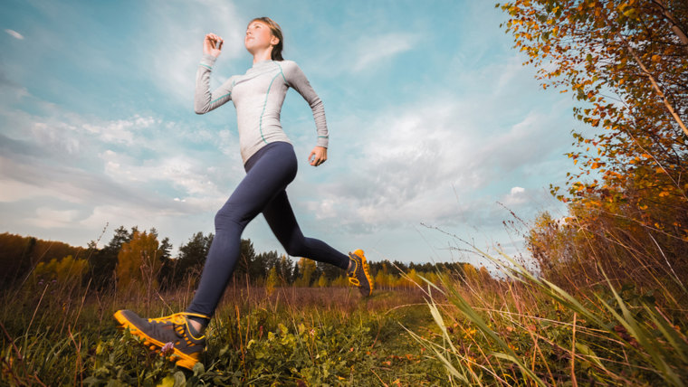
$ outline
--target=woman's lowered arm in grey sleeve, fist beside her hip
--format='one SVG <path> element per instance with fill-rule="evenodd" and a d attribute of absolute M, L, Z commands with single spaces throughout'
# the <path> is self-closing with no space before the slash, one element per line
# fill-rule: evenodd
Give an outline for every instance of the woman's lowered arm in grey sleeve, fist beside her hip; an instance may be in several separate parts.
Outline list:
<path fill-rule="evenodd" d="M 328 158 L 328 145 L 330 132 L 328 131 L 327 120 L 325 119 L 325 108 L 318 94 L 311 87 L 311 82 L 306 78 L 306 74 L 301 71 L 299 65 L 293 61 L 284 61 L 284 79 L 289 86 L 301 94 L 306 99 L 313 112 L 315 127 L 318 132 L 317 146 L 311 151 L 308 159 L 311 165 L 318 166 Z"/>

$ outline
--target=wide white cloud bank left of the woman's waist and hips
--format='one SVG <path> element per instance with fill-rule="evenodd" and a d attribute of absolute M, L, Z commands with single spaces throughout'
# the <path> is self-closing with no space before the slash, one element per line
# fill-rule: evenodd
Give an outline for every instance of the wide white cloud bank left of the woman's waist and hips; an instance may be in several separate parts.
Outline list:
<path fill-rule="evenodd" d="M 151 213 L 216 209 L 227 194 L 218 187 L 238 176 L 232 167 L 219 170 L 208 162 L 222 154 L 213 135 L 196 136 L 203 128 L 148 116 L 99 120 L 63 111 L 35 117 L 3 109 L 0 118 L 17 122 L 0 136 L 1 203 L 54 199 L 85 208 L 108 203 L 122 212 L 137 208 L 132 216 L 146 219 Z M 189 142 L 199 150 L 185 148 Z M 177 203 L 174 197 L 181 199 Z M 72 212 L 62 215 L 67 213 Z M 59 227 L 53 218 L 47 216 L 41 227 Z"/>

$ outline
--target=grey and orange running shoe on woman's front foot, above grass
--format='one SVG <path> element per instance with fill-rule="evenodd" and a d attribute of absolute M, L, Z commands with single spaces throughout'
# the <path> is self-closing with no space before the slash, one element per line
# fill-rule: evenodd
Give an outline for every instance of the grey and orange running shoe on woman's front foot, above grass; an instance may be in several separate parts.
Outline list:
<path fill-rule="evenodd" d="M 129 329 L 132 335 L 143 339 L 143 345 L 148 346 L 151 351 L 165 347 L 167 351 L 162 352 L 168 354 L 171 346 L 173 353 L 169 354 L 169 360 L 177 363 L 180 367 L 193 370 L 205 349 L 205 335 L 200 337 L 192 335 L 186 316 L 208 318 L 195 313 L 176 313 L 160 318 L 141 318 L 130 310 L 115 312 L 115 319 L 119 324 L 123 328 Z M 170 343 L 172 345 L 169 345 Z"/>

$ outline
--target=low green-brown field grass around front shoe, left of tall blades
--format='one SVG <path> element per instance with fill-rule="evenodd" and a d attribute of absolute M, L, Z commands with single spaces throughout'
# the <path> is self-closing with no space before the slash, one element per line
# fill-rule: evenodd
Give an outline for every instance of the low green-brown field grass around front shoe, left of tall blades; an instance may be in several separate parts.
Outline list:
<path fill-rule="evenodd" d="M 431 322 L 418 290 L 227 289 L 193 372 L 176 368 L 121 332 L 119 308 L 164 316 L 186 307 L 186 290 L 149 302 L 88 288 L 28 287 L 2 301 L 3 380 L 10 385 L 393 385 L 441 384 L 441 364 L 424 359 L 400 322 Z M 17 313 L 20 311 L 20 313 Z"/>

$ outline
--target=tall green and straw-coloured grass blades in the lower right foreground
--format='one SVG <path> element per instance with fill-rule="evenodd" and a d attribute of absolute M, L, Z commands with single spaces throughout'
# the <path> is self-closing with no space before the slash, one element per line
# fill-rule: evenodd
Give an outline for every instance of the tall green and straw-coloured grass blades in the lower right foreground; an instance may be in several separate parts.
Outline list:
<path fill-rule="evenodd" d="M 655 297 L 632 283 L 617 288 L 609 278 L 567 291 L 509 257 L 483 257 L 501 265 L 508 280 L 435 288 L 446 303 L 428 293 L 428 307 L 442 340 L 415 337 L 444 364 L 450 382 L 685 385 L 688 310 L 676 297 Z"/>

